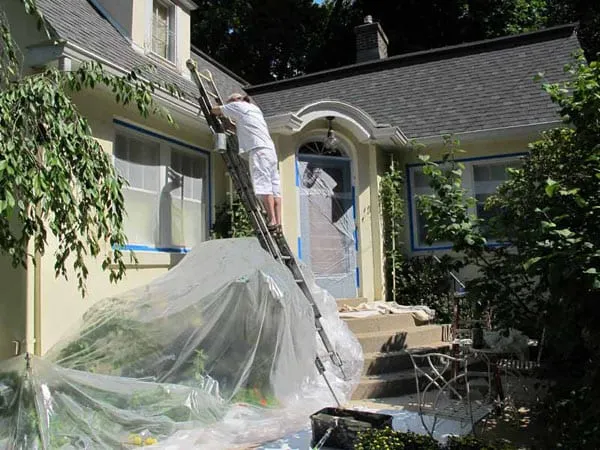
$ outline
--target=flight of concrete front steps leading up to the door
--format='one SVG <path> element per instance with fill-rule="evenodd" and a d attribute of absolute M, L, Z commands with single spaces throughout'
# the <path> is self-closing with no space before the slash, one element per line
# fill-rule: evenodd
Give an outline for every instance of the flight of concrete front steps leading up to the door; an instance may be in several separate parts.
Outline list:
<path fill-rule="evenodd" d="M 450 348 L 448 342 L 442 341 L 444 325 L 415 322 L 410 313 L 344 321 L 358 338 L 365 357 L 360 384 L 352 400 L 416 392 L 409 353 L 445 353 Z"/>

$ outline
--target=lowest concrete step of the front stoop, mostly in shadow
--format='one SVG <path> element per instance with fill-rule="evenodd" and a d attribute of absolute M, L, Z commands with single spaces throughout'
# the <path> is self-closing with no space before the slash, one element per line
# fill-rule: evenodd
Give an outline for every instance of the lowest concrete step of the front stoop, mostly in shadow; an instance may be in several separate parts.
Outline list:
<path fill-rule="evenodd" d="M 417 391 L 412 369 L 363 377 L 352 400 L 364 398 L 400 397 Z"/>

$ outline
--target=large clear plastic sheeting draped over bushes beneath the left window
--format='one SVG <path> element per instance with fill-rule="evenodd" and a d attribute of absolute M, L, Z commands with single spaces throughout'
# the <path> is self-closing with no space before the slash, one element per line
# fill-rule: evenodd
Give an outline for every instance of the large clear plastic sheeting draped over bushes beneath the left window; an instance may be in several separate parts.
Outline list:
<path fill-rule="evenodd" d="M 291 273 L 256 239 L 209 241 L 98 302 L 45 360 L 0 363 L 0 448 L 225 449 L 276 439 L 348 400 L 362 351 L 309 279 L 344 380 Z"/>

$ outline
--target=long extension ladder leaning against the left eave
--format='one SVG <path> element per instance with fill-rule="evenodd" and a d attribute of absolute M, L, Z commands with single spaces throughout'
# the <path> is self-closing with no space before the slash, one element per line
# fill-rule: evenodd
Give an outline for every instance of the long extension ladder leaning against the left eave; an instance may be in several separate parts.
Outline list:
<path fill-rule="evenodd" d="M 308 299 L 310 305 L 312 306 L 315 317 L 315 327 L 329 357 L 331 358 L 331 361 L 337 367 L 339 367 L 342 376 L 344 379 L 346 379 L 342 359 L 331 345 L 331 341 L 323 329 L 323 325 L 321 324 L 321 311 L 315 302 L 312 292 L 308 287 L 304 275 L 298 266 L 298 262 L 296 261 L 296 258 L 294 257 L 287 240 L 283 236 L 283 233 L 271 233 L 267 228 L 263 207 L 254 195 L 247 163 L 242 157 L 240 157 L 238 153 L 237 137 L 232 131 L 226 129 L 225 124 L 219 117 L 211 113 L 211 107 L 213 105 L 223 104 L 223 99 L 219 94 L 219 90 L 217 89 L 212 74 L 208 70 L 199 72 L 196 62 L 192 59 L 187 61 L 187 67 L 192 74 L 193 81 L 196 83 L 198 90 L 200 91 L 200 96 L 198 97 L 200 109 L 202 110 L 202 113 L 208 122 L 208 126 L 215 135 L 217 150 L 219 150 L 219 153 L 221 153 L 221 156 L 227 165 L 227 170 L 229 171 L 233 185 L 235 186 L 242 204 L 248 212 L 258 240 L 265 250 L 271 253 L 271 255 L 273 255 L 277 261 L 282 263 L 292 272 L 296 284 L 304 293 L 304 296 Z M 331 391 L 336 403 L 338 406 L 340 406 L 340 402 L 335 395 L 327 376 L 325 375 L 325 366 L 318 355 L 315 357 L 315 365 L 319 373 L 325 379 L 325 382 L 327 383 L 327 386 Z"/>

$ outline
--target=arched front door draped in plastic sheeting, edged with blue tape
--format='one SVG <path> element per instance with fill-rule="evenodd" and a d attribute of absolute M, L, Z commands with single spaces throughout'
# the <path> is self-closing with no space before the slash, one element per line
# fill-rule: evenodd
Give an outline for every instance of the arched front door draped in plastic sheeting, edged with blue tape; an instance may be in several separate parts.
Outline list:
<path fill-rule="evenodd" d="M 336 298 L 356 297 L 359 282 L 351 162 L 343 149 L 319 140 L 297 153 L 300 257 Z"/>

